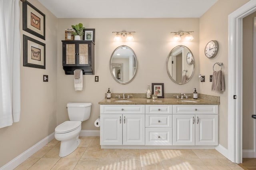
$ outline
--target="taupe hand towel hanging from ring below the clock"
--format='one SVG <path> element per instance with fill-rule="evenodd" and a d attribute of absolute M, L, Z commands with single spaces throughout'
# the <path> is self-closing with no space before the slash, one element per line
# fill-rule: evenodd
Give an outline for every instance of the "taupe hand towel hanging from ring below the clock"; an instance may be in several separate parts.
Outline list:
<path fill-rule="evenodd" d="M 224 76 L 221 70 L 212 73 L 212 90 L 215 92 L 225 90 Z"/>

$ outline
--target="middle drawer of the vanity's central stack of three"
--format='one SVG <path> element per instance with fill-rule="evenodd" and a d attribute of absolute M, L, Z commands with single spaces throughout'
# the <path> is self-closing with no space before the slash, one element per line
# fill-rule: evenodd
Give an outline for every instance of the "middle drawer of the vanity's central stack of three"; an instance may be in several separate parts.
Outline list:
<path fill-rule="evenodd" d="M 172 115 L 146 115 L 146 127 L 172 127 Z"/>

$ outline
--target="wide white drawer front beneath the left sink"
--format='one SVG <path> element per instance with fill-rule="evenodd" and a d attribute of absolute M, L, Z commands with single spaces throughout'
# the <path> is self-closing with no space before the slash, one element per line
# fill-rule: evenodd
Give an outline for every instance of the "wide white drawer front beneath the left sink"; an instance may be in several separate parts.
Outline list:
<path fill-rule="evenodd" d="M 145 105 L 100 105 L 100 114 L 145 114 Z"/>

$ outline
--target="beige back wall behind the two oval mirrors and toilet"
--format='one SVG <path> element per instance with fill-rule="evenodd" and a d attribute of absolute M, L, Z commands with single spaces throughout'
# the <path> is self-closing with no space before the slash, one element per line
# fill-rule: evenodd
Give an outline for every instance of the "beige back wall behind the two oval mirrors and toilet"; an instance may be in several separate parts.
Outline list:
<path fill-rule="evenodd" d="M 83 91 L 74 91 L 74 77 L 65 75 L 62 69 L 62 42 L 64 30 L 71 25 L 83 23 L 86 28 L 95 28 L 95 75 L 84 75 Z M 113 31 L 135 31 L 134 42 L 114 42 Z M 179 30 L 194 31 L 192 42 L 170 42 L 170 32 Z M 195 57 L 196 69 L 192 79 L 177 85 L 166 71 L 166 59 L 171 49 L 186 45 Z M 120 45 L 131 47 L 138 59 L 138 72 L 131 83 L 121 85 L 111 76 L 109 60 L 112 52 Z M 82 123 L 82 130 L 99 130 L 94 121 L 100 115 L 98 102 L 104 99 L 108 87 L 112 93 L 146 93 L 147 85 L 164 83 L 165 93 L 192 93 L 199 87 L 199 19 L 198 18 L 158 18 L 158 19 L 58 19 L 58 111 L 57 124 L 68 120 L 68 102 L 92 102 L 90 119 Z"/>

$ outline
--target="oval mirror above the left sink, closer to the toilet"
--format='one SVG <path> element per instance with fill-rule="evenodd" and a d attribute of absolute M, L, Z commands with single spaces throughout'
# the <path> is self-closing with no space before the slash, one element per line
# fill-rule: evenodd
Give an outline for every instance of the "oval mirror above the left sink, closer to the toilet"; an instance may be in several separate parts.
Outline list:
<path fill-rule="evenodd" d="M 137 71 L 136 55 L 130 47 L 121 45 L 113 51 L 109 66 L 112 77 L 118 83 L 130 83 Z"/>

